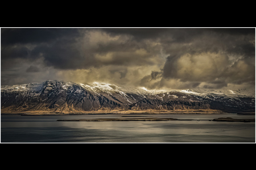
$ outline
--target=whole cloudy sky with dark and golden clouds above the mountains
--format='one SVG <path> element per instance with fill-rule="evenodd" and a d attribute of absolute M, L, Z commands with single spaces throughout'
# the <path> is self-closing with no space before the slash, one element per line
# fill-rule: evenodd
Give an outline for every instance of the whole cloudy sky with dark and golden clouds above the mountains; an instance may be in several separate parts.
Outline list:
<path fill-rule="evenodd" d="M 255 28 L 1 28 L 1 85 L 254 88 Z"/>

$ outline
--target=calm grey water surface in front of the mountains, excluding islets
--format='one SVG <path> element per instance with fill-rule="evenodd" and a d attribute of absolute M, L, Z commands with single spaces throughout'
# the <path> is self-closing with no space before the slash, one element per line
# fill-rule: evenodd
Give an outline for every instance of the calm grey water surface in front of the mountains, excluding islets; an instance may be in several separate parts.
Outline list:
<path fill-rule="evenodd" d="M 159 118 L 195 121 L 56 121 L 80 118 Z M 137 117 L 137 118 L 143 118 Z M 255 143 L 255 122 L 208 121 L 237 114 L 109 114 L 69 116 L 1 115 L 2 143 Z M 134 117 L 136 118 L 136 117 Z"/>

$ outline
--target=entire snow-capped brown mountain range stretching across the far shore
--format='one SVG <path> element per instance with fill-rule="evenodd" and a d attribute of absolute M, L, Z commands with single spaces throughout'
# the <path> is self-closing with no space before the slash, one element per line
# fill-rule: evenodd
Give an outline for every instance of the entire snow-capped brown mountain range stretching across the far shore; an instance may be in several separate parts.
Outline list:
<path fill-rule="evenodd" d="M 109 83 L 59 80 L 1 86 L 1 112 L 174 111 L 255 112 L 255 91 L 173 90 L 156 93 Z"/>

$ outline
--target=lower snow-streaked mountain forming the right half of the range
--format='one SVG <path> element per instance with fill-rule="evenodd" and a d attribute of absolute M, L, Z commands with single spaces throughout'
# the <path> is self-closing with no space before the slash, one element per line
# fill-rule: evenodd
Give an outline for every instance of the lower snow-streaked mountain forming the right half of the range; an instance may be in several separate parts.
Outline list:
<path fill-rule="evenodd" d="M 253 94 L 218 92 L 199 93 L 199 91 L 194 90 L 174 90 L 147 96 L 134 106 L 137 109 L 214 109 L 230 113 L 255 112 L 255 97 L 253 97 Z"/>

